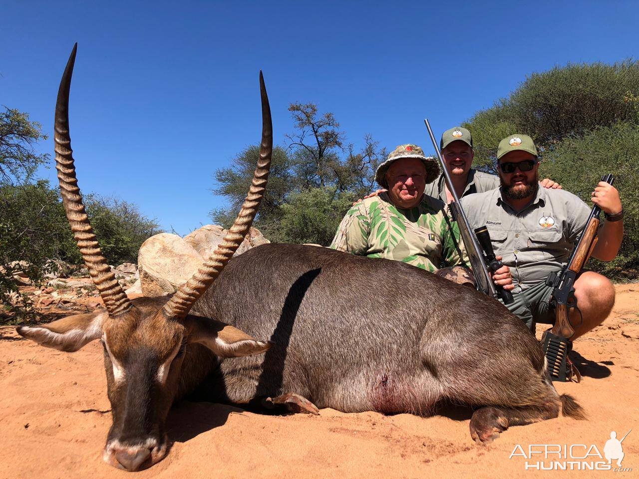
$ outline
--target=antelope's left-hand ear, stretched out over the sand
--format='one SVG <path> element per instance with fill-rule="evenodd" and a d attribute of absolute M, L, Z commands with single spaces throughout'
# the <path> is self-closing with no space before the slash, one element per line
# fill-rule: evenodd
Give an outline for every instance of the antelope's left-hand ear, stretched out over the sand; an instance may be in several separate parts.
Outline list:
<path fill-rule="evenodd" d="M 70 353 L 102 337 L 102 321 L 108 316 L 107 312 L 77 314 L 42 326 L 18 326 L 17 331 L 42 346 Z"/>

